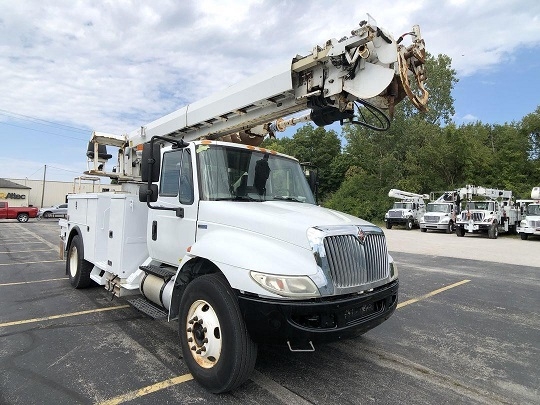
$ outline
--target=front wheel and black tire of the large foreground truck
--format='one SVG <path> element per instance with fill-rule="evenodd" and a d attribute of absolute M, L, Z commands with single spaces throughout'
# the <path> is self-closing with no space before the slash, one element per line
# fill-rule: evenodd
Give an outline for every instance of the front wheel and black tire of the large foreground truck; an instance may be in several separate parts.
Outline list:
<path fill-rule="evenodd" d="M 188 284 L 180 301 L 178 323 L 184 360 L 200 385 L 218 394 L 250 377 L 257 345 L 223 275 L 203 275 Z M 210 327 L 212 333 L 207 331 Z"/>

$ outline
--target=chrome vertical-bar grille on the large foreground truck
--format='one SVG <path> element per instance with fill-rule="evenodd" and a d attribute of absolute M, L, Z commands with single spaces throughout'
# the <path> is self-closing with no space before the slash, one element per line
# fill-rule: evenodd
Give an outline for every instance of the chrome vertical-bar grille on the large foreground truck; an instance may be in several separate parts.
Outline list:
<path fill-rule="evenodd" d="M 363 243 L 354 235 L 327 236 L 324 249 L 336 288 L 358 287 L 389 276 L 384 235 L 366 233 Z"/>

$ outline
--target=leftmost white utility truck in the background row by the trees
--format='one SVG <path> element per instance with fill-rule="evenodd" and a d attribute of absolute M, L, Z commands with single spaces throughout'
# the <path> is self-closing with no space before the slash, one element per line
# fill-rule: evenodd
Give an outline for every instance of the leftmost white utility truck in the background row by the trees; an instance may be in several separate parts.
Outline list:
<path fill-rule="evenodd" d="M 400 201 L 395 202 L 393 207 L 384 215 L 386 229 L 392 229 L 393 225 L 405 225 L 408 230 L 420 225 L 420 219 L 426 212 L 427 194 L 415 194 L 408 191 L 391 189 L 388 197 L 397 198 Z"/>

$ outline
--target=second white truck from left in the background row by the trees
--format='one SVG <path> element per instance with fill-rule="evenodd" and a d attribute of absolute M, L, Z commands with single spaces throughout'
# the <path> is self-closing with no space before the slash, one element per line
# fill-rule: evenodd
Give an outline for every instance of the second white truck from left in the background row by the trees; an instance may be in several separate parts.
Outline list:
<path fill-rule="evenodd" d="M 455 231 L 456 215 L 459 207 L 456 203 L 456 192 L 445 191 L 435 201 L 426 205 L 426 213 L 420 218 L 420 231 L 428 229 L 443 230 L 446 233 Z"/>

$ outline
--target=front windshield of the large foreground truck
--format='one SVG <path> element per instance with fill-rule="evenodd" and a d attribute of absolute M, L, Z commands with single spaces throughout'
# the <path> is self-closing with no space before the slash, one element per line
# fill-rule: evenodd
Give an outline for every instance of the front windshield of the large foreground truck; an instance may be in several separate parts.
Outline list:
<path fill-rule="evenodd" d="M 300 164 L 258 150 L 200 145 L 197 148 L 203 200 L 285 200 L 315 204 Z"/>

